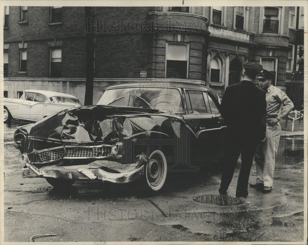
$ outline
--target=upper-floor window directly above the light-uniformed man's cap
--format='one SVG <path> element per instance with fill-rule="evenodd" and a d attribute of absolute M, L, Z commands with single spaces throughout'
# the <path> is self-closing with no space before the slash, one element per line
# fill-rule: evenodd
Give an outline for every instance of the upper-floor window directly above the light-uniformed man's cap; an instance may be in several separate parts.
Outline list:
<path fill-rule="evenodd" d="M 279 9 L 273 7 L 264 7 L 263 33 L 279 32 Z"/>

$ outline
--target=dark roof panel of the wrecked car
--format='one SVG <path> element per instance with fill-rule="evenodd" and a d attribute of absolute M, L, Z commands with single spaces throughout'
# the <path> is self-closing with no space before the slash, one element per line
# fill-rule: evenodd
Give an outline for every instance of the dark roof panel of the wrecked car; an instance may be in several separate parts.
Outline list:
<path fill-rule="evenodd" d="M 182 81 L 162 81 L 162 82 L 156 82 L 156 81 L 146 81 L 143 80 L 142 82 L 133 82 L 133 83 L 119 83 L 119 84 L 114 84 L 106 89 L 109 88 L 122 88 L 122 87 L 139 87 L 144 85 L 148 87 L 174 87 L 174 88 L 192 88 L 192 89 L 202 89 L 202 90 L 210 90 L 209 88 L 205 87 L 202 84 L 196 84 L 192 82 L 182 82 Z"/>

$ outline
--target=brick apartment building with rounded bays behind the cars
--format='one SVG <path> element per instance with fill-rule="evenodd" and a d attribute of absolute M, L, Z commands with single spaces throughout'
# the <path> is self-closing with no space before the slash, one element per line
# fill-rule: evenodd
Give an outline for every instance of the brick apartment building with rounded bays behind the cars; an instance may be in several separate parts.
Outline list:
<path fill-rule="evenodd" d="M 276 74 L 296 70 L 303 45 L 303 7 L 84 7 L 6 6 L 4 92 L 18 97 L 37 88 L 69 93 L 82 102 L 86 76 L 86 26 L 94 31 L 95 104 L 115 82 L 176 77 L 205 84 L 222 96 L 240 81 L 243 63 Z M 87 30 L 88 30 L 87 29 Z"/>

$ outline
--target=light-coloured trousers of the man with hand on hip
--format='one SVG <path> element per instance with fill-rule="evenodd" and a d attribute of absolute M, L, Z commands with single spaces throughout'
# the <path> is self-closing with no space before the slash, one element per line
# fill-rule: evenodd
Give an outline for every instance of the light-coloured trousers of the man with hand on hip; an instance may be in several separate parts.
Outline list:
<path fill-rule="evenodd" d="M 273 186 L 275 157 L 278 151 L 281 126 L 279 122 L 266 126 L 266 139 L 257 146 L 254 161 L 257 167 L 257 183 Z"/>

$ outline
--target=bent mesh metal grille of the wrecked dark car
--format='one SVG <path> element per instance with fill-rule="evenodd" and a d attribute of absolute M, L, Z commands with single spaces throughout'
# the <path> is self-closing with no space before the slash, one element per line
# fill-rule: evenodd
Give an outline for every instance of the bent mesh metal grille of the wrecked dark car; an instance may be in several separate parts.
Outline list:
<path fill-rule="evenodd" d="M 111 145 L 61 146 L 36 151 L 38 162 L 63 159 L 85 159 L 111 157 Z"/>

